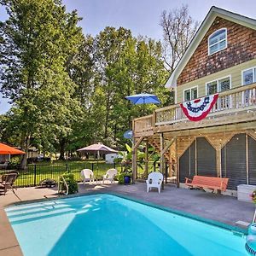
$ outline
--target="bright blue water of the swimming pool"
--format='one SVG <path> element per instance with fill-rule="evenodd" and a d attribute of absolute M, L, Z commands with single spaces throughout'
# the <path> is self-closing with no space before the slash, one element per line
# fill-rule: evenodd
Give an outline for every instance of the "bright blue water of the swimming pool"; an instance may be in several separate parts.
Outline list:
<path fill-rule="evenodd" d="M 5 209 L 29 255 L 247 255 L 245 237 L 114 195 Z"/>

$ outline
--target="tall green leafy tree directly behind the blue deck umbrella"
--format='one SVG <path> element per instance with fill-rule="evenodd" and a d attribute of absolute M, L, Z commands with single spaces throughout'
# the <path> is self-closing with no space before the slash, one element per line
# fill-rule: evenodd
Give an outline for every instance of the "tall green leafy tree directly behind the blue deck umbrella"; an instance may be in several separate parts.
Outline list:
<path fill-rule="evenodd" d="M 106 27 L 96 37 L 95 63 L 99 74 L 97 92 L 104 98 L 93 102 L 93 108 L 102 108 L 105 117 L 102 139 L 114 146 L 122 140 L 125 129 L 131 128 L 132 117 L 142 115 L 142 107 L 132 106 L 125 96 L 157 93 L 166 101 L 161 45 L 148 38 L 134 38 L 130 30 L 122 27 Z M 143 107 L 145 113 L 154 108 Z"/>

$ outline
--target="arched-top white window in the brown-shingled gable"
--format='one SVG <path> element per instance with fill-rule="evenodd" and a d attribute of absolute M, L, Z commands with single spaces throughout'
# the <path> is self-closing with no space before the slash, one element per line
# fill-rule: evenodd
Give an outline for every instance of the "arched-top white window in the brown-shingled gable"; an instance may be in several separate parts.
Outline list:
<path fill-rule="evenodd" d="M 208 55 L 212 55 L 227 47 L 227 29 L 221 28 L 208 38 Z"/>

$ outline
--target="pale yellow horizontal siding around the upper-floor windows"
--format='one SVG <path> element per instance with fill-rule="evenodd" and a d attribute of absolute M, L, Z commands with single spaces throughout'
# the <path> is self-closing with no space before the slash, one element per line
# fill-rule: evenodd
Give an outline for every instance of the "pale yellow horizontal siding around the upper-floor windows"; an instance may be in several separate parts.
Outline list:
<path fill-rule="evenodd" d="M 231 77 L 231 88 L 236 88 L 241 86 L 241 71 L 250 67 L 256 67 L 256 59 L 252 61 L 247 61 L 241 63 L 240 65 L 224 69 L 218 73 L 213 73 L 209 76 L 203 77 L 201 79 L 196 79 L 187 84 L 182 84 L 177 86 L 177 102 L 183 102 L 183 90 L 189 89 L 191 87 L 198 86 L 198 97 L 206 95 L 206 84 L 213 80 L 223 79 L 225 77 Z"/>

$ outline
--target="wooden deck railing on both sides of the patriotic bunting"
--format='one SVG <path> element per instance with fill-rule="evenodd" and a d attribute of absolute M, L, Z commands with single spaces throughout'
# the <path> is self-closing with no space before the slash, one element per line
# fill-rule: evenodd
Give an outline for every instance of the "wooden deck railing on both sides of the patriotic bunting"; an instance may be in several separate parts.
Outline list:
<path fill-rule="evenodd" d="M 237 113 L 244 110 L 256 109 L 256 84 L 243 85 L 218 94 L 218 101 L 207 117 L 225 113 Z M 159 125 L 172 125 L 187 120 L 180 103 L 158 108 L 152 115 L 134 119 L 134 131 L 142 132 Z"/>

